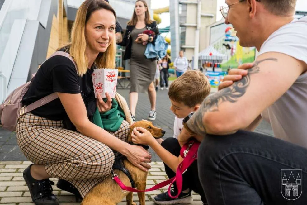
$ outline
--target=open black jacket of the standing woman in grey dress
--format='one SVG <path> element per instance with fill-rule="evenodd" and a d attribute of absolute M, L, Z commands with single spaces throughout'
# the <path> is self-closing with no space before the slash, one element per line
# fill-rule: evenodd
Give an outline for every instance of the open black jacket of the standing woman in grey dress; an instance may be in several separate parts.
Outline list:
<path fill-rule="evenodd" d="M 132 30 L 134 28 L 135 28 L 135 26 L 127 25 L 123 41 L 118 44 L 118 45 L 121 45 L 121 46 L 126 46 L 124 60 L 127 60 L 127 59 L 131 58 L 131 46 L 132 46 L 131 32 L 132 32 Z M 151 24 L 146 24 L 146 29 L 147 30 L 154 29 L 154 31 L 156 33 L 156 36 L 155 36 L 153 42 L 151 42 L 152 44 L 154 44 L 154 42 L 155 42 L 155 40 L 157 38 L 157 35 L 159 34 L 159 29 L 158 29 L 158 26 L 157 26 L 157 22 L 154 21 Z M 153 60 L 155 60 L 155 59 L 156 58 L 154 58 Z"/>

